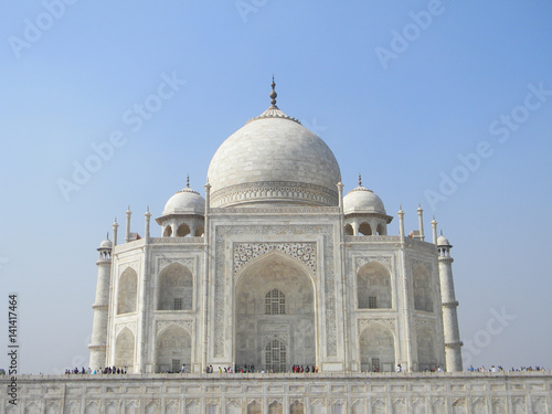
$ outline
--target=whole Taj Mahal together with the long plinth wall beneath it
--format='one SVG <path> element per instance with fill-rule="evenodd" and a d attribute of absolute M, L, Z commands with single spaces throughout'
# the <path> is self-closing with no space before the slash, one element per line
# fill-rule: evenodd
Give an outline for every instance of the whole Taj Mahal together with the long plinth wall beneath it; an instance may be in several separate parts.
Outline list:
<path fill-rule="evenodd" d="M 221 140 L 204 197 L 188 179 L 158 229 L 128 208 L 99 244 L 96 373 L 19 375 L 18 404 L 2 393 L 0 412 L 552 413 L 550 371 L 463 371 L 453 246 L 435 217 L 424 229 L 420 206 L 405 229 L 360 176 L 344 194 L 357 178 L 278 108 L 275 86 Z"/>

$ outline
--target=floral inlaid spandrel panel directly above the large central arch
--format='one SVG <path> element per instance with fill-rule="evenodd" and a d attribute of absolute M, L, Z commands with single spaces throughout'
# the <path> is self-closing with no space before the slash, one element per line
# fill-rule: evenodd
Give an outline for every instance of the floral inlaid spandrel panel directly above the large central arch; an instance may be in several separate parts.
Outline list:
<path fill-rule="evenodd" d="M 316 274 L 316 243 L 235 243 L 234 274 L 247 262 L 265 253 L 278 251 L 307 265 Z"/>

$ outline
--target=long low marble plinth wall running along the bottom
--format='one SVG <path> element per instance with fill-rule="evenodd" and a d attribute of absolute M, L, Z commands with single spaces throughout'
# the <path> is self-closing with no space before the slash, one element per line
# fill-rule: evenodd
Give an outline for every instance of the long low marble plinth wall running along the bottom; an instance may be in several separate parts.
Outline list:
<path fill-rule="evenodd" d="M 0 376 L 6 390 L 8 376 Z M 552 413 L 551 372 L 19 376 L 6 414 Z M 302 406 L 302 410 L 301 410 Z M 247 407 L 258 407 L 257 411 Z M 291 411 L 291 407 L 294 408 Z"/>

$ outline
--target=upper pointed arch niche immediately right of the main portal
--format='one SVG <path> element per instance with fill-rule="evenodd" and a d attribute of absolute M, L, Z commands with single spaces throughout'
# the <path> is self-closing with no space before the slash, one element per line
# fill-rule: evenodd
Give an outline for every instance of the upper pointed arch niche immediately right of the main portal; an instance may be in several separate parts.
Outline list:
<path fill-rule="evenodd" d="M 359 309 L 391 309 L 391 273 L 378 262 L 369 262 L 357 275 Z"/>

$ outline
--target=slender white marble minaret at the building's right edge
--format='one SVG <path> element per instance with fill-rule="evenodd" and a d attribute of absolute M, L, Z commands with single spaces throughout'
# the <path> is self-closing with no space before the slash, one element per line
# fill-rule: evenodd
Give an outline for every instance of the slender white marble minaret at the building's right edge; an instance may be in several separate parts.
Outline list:
<path fill-rule="evenodd" d="M 445 335 L 445 358 L 448 372 L 461 371 L 460 331 L 458 329 L 458 301 L 454 294 L 453 262 L 448 240 L 440 235 L 437 238 L 439 259 L 440 296 L 443 300 L 443 330 Z"/>

